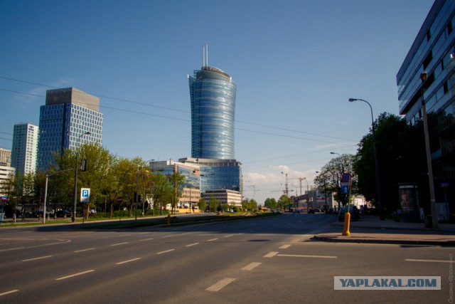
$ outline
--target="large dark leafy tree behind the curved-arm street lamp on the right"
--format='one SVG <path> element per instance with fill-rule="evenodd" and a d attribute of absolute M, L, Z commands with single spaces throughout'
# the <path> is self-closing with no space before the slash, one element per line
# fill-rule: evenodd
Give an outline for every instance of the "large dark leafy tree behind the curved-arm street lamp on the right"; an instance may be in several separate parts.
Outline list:
<path fill-rule="evenodd" d="M 400 208 L 398 183 L 417 181 L 419 173 L 426 172 L 423 132 L 419 126 L 409 125 L 404 118 L 386 112 L 379 115 L 374 123 L 382 174 L 382 206 L 391 211 Z M 371 129 L 360 140 L 354 169 L 358 174 L 358 191 L 376 204 L 378 194 Z"/>

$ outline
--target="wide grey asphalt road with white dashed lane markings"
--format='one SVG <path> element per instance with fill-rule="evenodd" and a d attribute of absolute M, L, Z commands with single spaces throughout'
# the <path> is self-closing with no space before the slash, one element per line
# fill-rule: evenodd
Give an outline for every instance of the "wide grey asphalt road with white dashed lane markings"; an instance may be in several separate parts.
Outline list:
<path fill-rule="evenodd" d="M 0 303 L 453 302 L 453 247 L 311 241 L 332 221 L 1 229 Z M 334 290 L 334 276 L 440 276 L 441 290 Z"/>

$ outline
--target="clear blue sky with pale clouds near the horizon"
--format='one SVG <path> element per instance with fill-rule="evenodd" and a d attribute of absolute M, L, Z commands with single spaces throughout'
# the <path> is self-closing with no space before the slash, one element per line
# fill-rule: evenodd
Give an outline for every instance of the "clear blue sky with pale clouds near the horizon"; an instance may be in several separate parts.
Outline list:
<path fill-rule="evenodd" d="M 370 108 L 398 114 L 396 74 L 433 1 L 0 0 L 0 147 L 38 125 L 45 90 L 102 96 L 103 145 L 122 157 L 191 156 L 187 75 L 237 84 L 235 157 L 245 196 L 278 198 L 355 154 Z M 306 182 L 303 181 L 304 188 Z M 254 191 L 256 190 L 256 191 Z"/>

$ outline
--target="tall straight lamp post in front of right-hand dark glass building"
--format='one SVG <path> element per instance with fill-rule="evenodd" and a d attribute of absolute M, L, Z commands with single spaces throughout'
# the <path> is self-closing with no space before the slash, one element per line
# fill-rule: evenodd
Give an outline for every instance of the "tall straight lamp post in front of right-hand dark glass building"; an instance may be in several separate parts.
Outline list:
<path fill-rule="evenodd" d="M 439 228 L 438 221 L 438 208 L 436 204 L 436 198 L 434 195 L 434 179 L 433 179 L 433 167 L 432 167 L 432 154 L 429 148 L 429 132 L 428 132 L 428 117 L 427 107 L 424 101 L 424 84 L 427 80 L 428 73 L 426 71 L 420 74 L 420 80 L 422 81 L 422 115 L 424 119 L 424 136 L 425 136 L 425 150 L 427 152 L 427 168 L 428 168 L 428 182 L 429 182 L 429 196 L 430 196 L 430 207 L 432 210 L 432 228 Z"/>

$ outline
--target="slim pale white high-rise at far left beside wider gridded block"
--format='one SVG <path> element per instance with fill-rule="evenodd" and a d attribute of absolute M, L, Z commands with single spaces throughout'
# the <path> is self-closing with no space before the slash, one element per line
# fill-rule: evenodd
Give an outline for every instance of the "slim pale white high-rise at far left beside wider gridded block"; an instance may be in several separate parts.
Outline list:
<path fill-rule="evenodd" d="M 11 167 L 16 168 L 16 174 L 36 172 L 38 130 L 38 126 L 29 123 L 14 125 Z"/>

